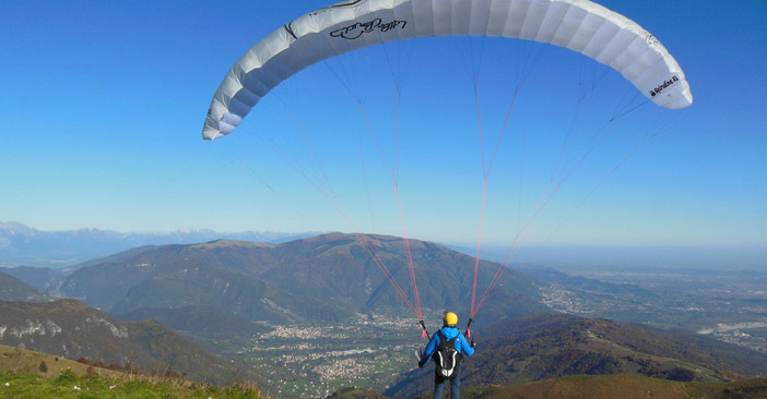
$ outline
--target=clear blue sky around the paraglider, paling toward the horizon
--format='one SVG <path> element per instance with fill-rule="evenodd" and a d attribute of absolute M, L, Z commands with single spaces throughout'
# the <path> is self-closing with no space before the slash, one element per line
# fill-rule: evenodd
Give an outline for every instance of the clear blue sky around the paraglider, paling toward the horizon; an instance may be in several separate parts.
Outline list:
<path fill-rule="evenodd" d="M 529 66 L 488 180 L 483 242 L 508 245 L 523 231 L 522 241 L 535 245 L 767 249 L 767 3 L 600 3 L 663 43 L 695 102 L 675 112 L 642 106 L 610 124 L 538 217 L 531 215 L 567 126 L 581 126 L 581 141 L 565 147 L 575 154 L 604 121 L 640 101 L 620 76 L 582 56 L 495 39 L 387 45 L 303 71 L 231 136 L 203 142 L 205 111 L 232 63 L 329 2 L 3 4 L 0 220 L 40 230 L 402 235 L 367 117 L 387 161 L 399 153 L 408 235 L 475 243 L 482 157 L 471 71 L 481 66 L 489 154 L 508 93 Z M 599 82 L 588 92 L 593 105 L 578 111 L 578 83 L 590 82 Z M 402 88 L 399 107 L 393 83 Z M 322 190 L 332 188 L 353 221 L 304 176 L 330 182 Z"/>

